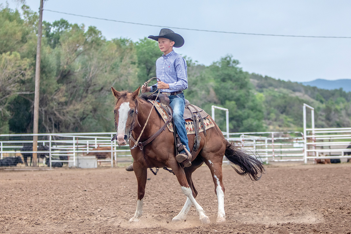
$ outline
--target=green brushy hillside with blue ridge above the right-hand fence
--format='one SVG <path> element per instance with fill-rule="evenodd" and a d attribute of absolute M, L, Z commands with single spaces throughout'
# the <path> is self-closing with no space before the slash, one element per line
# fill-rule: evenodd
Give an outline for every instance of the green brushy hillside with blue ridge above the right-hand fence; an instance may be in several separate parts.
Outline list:
<path fill-rule="evenodd" d="M 248 75 L 257 97 L 262 102 L 267 129 L 302 131 L 303 103 L 314 107 L 317 128 L 351 126 L 351 92 L 345 91 L 350 91 L 350 79 L 316 80 L 312 81 L 316 84 L 306 82 L 308 85 L 304 85 L 254 73 Z M 330 82 L 329 87 L 319 86 L 324 81 Z M 341 85 L 332 87 L 338 82 L 342 82 Z M 340 87 L 343 90 L 340 91 Z"/>

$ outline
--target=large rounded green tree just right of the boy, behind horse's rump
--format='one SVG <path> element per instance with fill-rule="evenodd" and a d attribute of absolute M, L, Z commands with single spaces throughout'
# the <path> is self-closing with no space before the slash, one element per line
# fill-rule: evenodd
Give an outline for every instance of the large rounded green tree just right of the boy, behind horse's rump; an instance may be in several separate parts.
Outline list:
<path fill-rule="evenodd" d="M 227 55 L 199 72 L 198 76 L 189 77 L 187 95 L 206 111 L 210 111 L 210 103 L 230 109 L 231 132 L 263 131 L 262 102 L 254 94 L 249 76 L 238 64 Z M 222 130 L 225 129 L 224 116 L 219 114 L 217 118 L 216 115 L 216 122 Z"/>

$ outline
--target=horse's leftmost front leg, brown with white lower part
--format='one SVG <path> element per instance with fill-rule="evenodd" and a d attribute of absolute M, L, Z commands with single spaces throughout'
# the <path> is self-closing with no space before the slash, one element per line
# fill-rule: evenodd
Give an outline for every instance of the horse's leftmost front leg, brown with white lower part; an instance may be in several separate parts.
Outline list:
<path fill-rule="evenodd" d="M 131 218 L 130 222 L 139 222 L 141 215 L 143 215 L 143 199 L 145 195 L 145 186 L 146 186 L 146 179 L 147 179 L 147 170 L 146 168 L 141 167 L 137 162 L 134 161 L 133 163 L 134 173 L 137 177 L 138 181 L 138 203 L 137 203 L 137 210 L 133 218 Z"/>

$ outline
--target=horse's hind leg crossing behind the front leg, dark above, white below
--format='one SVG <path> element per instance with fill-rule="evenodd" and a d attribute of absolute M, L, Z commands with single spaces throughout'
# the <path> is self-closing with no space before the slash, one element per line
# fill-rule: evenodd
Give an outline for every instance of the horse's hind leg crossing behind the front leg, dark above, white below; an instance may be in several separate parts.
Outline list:
<path fill-rule="evenodd" d="M 202 163 L 203 162 L 201 161 L 201 163 L 199 165 L 196 165 L 196 162 L 193 161 L 191 167 L 184 168 L 186 180 L 187 180 L 188 185 L 190 186 L 190 188 L 192 190 L 192 194 L 193 194 L 194 198 L 196 198 L 196 196 L 197 196 L 197 190 L 194 187 L 191 175 L 199 166 L 202 165 Z M 172 219 L 172 221 L 184 221 L 186 219 L 187 213 L 190 210 L 191 205 L 192 205 L 192 203 L 191 203 L 190 199 L 187 197 L 183 208 L 180 210 L 179 214 Z"/>

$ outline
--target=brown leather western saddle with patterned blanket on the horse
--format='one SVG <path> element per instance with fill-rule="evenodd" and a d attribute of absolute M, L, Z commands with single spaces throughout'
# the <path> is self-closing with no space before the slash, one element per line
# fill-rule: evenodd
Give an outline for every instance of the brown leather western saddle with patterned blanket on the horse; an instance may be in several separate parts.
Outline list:
<path fill-rule="evenodd" d="M 153 95 L 149 96 L 149 99 L 155 100 L 156 97 L 157 97 L 157 95 L 153 94 Z M 159 101 L 161 108 L 163 109 L 163 111 L 165 111 L 167 113 L 167 115 L 172 114 L 172 108 L 169 106 L 170 100 L 169 100 L 168 96 L 166 96 L 164 94 L 159 94 L 157 100 Z M 155 108 L 155 109 L 162 116 L 162 113 L 160 113 L 157 108 Z M 204 134 L 206 136 L 206 126 L 204 123 L 204 119 L 208 118 L 207 116 L 208 116 L 208 114 L 203 109 L 201 109 L 198 106 L 190 104 L 190 102 L 185 99 L 185 109 L 184 109 L 183 118 L 186 121 L 193 122 L 194 132 L 195 132 L 194 147 L 191 151 L 192 155 L 194 155 L 200 147 L 201 136 L 199 135 L 199 132 L 200 132 L 201 126 L 202 126 L 202 129 L 203 129 Z M 172 120 L 172 123 L 173 123 L 173 120 Z M 173 123 L 173 126 L 174 126 L 174 123 Z M 176 153 L 178 154 L 179 152 L 181 152 L 183 150 L 183 145 L 180 142 L 177 131 L 174 131 L 174 141 L 176 142 L 176 150 L 177 150 Z"/>

